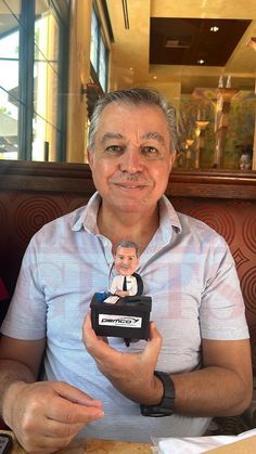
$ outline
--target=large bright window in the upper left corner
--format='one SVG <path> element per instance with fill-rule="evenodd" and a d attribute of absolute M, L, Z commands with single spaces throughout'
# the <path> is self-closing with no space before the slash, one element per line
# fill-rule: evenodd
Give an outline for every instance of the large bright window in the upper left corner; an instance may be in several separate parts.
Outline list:
<path fill-rule="evenodd" d="M 65 158 L 67 29 L 66 0 L 0 0 L 0 158 Z"/>

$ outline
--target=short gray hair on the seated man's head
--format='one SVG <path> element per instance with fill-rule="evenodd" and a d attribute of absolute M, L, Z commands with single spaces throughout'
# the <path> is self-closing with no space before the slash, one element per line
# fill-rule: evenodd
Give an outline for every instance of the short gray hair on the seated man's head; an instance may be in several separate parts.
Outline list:
<path fill-rule="evenodd" d="M 88 133 L 89 150 L 93 151 L 95 144 L 95 134 L 99 130 L 102 112 L 111 103 L 158 106 L 165 115 L 167 121 L 170 135 L 170 153 L 175 154 L 178 142 L 175 108 L 158 91 L 149 88 L 132 88 L 127 90 L 112 91 L 97 101 Z"/>

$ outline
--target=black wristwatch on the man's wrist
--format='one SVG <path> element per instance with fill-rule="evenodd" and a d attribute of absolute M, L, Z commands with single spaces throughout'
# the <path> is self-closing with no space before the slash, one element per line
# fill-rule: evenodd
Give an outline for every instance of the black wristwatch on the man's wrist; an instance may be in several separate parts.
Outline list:
<path fill-rule="evenodd" d="M 154 375 L 161 379 L 164 385 L 164 395 L 157 405 L 140 405 L 143 416 L 170 416 L 175 410 L 175 386 L 170 376 L 165 372 L 155 371 Z"/>

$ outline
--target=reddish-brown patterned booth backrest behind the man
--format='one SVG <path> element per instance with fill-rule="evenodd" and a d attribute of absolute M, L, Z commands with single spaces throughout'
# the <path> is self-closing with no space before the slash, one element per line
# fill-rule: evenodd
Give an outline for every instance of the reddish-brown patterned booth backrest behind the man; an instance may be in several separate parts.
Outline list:
<path fill-rule="evenodd" d="M 208 223 L 230 245 L 246 304 L 256 373 L 256 176 L 251 176 L 249 185 L 244 177 L 242 183 L 230 180 L 227 185 L 222 174 L 218 180 L 210 174 L 205 180 L 199 173 L 171 178 L 166 194 L 175 208 Z M 12 295 L 31 235 L 46 222 L 86 204 L 94 187 L 85 165 L 0 163 L 0 277 Z M 0 302 L 1 319 L 8 303 Z"/>

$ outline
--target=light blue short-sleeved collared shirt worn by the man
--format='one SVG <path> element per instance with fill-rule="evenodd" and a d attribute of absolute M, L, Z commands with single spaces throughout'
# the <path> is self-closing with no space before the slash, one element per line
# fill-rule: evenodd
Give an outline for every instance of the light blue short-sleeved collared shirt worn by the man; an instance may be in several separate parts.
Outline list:
<path fill-rule="evenodd" d="M 150 418 L 98 371 L 81 340 L 82 321 L 95 291 L 112 275 L 112 244 L 99 233 L 95 193 L 86 207 L 44 225 L 24 256 L 2 333 L 20 339 L 47 337 L 46 379 L 64 380 L 103 401 L 105 417 L 82 436 L 150 441 L 204 433 L 209 418 L 172 415 Z M 225 239 L 203 222 L 178 213 L 163 196 L 159 228 L 137 270 L 151 319 L 163 336 L 157 369 L 183 373 L 201 366 L 201 338 L 248 337 L 233 258 Z M 129 238 L 127 238 L 129 239 Z M 110 343 L 127 351 L 123 339 Z M 132 342 L 138 351 L 144 340 Z"/>

